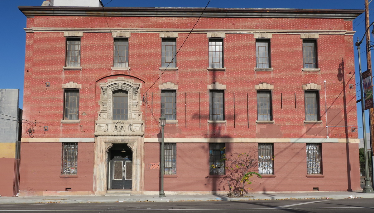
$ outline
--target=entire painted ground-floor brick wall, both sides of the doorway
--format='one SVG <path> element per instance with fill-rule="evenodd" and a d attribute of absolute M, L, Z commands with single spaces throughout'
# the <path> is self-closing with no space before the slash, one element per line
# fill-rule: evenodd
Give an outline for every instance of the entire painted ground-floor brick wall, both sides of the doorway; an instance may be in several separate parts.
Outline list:
<path fill-rule="evenodd" d="M 156 139 L 157 141 L 157 139 Z M 94 143 L 78 143 L 78 174 L 61 175 L 61 142 L 22 142 L 20 195 L 95 195 L 93 191 Z M 226 143 L 226 156 L 253 153 L 257 143 Z M 142 194 L 159 191 L 159 143 L 144 143 Z M 252 178 L 249 193 L 360 190 L 358 143 L 322 143 L 323 175 L 307 175 L 306 143 L 274 143 L 274 175 Z M 257 153 L 255 153 L 257 158 Z M 178 142 L 177 174 L 165 175 L 168 193 L 226 193 L 224 176 L 209 175 L 209 143 Z M 65 191 L 71 188 L 71 192 Z"/>

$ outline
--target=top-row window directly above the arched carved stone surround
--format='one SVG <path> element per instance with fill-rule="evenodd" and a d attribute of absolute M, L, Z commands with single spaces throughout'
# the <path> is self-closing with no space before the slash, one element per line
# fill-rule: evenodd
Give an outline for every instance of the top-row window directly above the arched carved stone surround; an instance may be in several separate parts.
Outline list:
<path fill-rule="evenodd" d="M 113 67 L 129 66 L 129 39 L 114 38 Z"/>

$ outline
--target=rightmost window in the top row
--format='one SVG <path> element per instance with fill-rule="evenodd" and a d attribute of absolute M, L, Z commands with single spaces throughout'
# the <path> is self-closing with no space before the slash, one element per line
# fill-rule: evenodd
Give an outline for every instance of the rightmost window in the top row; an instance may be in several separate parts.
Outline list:
<path fill-rule="evenodd" d="M 317 63 L 317 40 L 303 40 L 303 63 L 304 68 L 318 68 Z"/>

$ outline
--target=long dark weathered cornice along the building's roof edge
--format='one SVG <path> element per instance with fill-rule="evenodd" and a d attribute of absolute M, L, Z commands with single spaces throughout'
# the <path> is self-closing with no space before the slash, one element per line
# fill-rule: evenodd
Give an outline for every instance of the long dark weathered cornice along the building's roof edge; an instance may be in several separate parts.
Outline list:
<path fill-rule="evenodd" d="M 344 18 L 354 19 L 364 10 L 254 9 L 195 7 L 50 7 L 19 6 L 26 16 L 159 16 L 219 18 Z"/>

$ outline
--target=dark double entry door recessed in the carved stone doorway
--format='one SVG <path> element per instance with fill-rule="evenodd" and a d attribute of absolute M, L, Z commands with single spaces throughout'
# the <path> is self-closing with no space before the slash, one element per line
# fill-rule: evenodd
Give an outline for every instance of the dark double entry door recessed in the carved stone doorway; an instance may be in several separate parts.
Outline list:
<path fill-rule="evenodd" d="M 132 188 L 132 152 L 130 149 L 111 150 L 108 176 L 110 189 Z"/>

